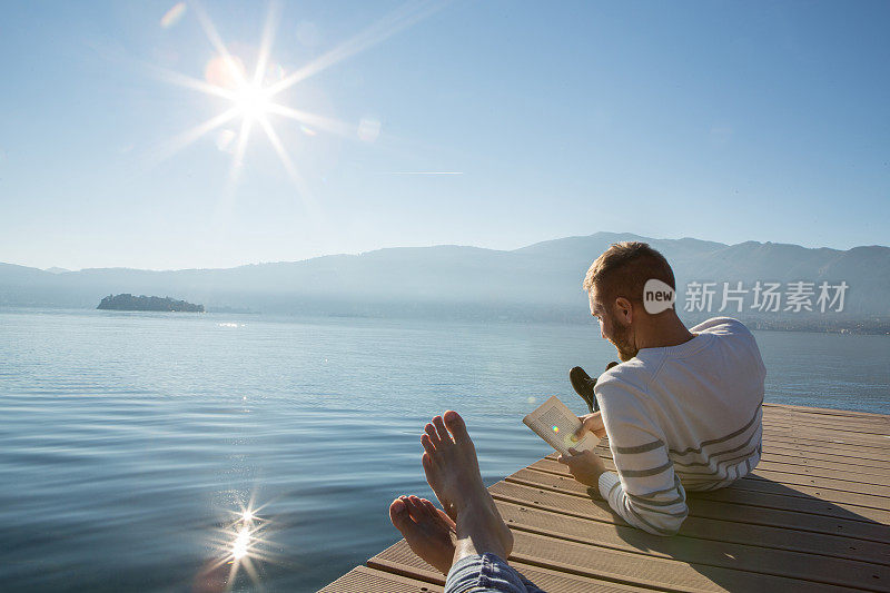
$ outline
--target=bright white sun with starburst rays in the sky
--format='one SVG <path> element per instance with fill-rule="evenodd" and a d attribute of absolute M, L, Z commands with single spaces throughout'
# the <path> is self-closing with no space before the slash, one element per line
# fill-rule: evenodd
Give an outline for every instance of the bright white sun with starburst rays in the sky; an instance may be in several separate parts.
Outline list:
<path fill-rule="evenodd" d="M 164 27 L 169 26 L 165 23 L 175 22 L 182 17 L 185 8 L 181 8 L 180 4 L 175 6 L 168 14 L 165 14 Z M 359 34 L 290 73 L 286 73 L 284 68 L 275 65 L 271 60 L 276 29 L 280 21 L 280 8 L 277 3 L 269 4 L 260 34 L 256 63 L 251 70 L 248 70 L 240 56 L 230 51 L 204 7 L 199 2 L 189 2 L 188 6 L 194 9 L 207 40 L 214 48 L 215 56 L 205 68 L 204 79 L 168 70 L 162 70 L 160 73 L 168 82 L 208 97 L 224 99 L 227 105 L 219 115 L 174 137 L 162 147 L 160 159 L 166 160 L 174 157 L 224 126 L 233 126 L 237 131 L 220 130 L 221 135 L 217 138 L 217 146 L 231 154 L 228 179 L 230 185 L 235 186 L 244 166 L 251 136 L 257 131 L 265 136 L 288 178 L 303 198 L 304 205 L 312 213 L 315 206 L 308 185 L 298 164 L 288 154 L 277 126 L 287 121 L 293 122 L 301 132 L 300 138 L 307 141 L 312 141 L 312 138 L 318 132 L 358 140 L 365 140 L 367 135 L 360 129 L 364 122 L 349 125 L 329 116 L 309 112 L 298 106 L 285 105 L 283 100 L 285 91 L 411 27 L 441 9 L 444 2 L 433 0 L 408 2 Z M 376 139 L 376 134 L 374 138 Z"/>

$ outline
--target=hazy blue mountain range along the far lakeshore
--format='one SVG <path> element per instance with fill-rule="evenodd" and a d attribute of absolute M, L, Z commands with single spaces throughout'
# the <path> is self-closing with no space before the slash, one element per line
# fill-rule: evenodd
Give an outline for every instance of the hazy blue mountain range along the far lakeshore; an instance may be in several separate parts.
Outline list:
<path fill-rule="evenodd" d="M 746 287 L 755 280 L 844 280 L 850 286 L 846 310 L 834 318 L 890 317 L 888 247 L 838 250 L 755 241 L 724 245 L 613 233 L 543 241 L 512 251 L 405 247 L 227 269 L 101 268 L 59 274 L 0 264 L 0 305 L 93 308 L 105 295 L 131 293 L 177 295 L 205 303 L 209 310 L 231 307 L 283 314 L 581 319 L 589 316 L 581 289 L 584 273 L 617 240 L 645 240 L 661 250 L 674 268 L 681 298 L 692 280 L 741 280 Z M 752 318 L 750 312 L 732 314 Z M 706 316 L 685 314 L 683 318 Z"/>

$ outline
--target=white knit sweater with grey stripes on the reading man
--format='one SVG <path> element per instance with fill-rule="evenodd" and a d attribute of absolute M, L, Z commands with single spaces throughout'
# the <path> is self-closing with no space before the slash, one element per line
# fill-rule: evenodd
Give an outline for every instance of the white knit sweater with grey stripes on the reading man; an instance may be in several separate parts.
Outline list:
<path fill-rule="evenodd" d="M 643 348 L 596 382 L 615 472 L 600 493 L 627 523 L 672 535 L 686 491 L 715 490 L 760 461 L 767 369 L 754 336 L 718 317 L 679 346 Z"/>

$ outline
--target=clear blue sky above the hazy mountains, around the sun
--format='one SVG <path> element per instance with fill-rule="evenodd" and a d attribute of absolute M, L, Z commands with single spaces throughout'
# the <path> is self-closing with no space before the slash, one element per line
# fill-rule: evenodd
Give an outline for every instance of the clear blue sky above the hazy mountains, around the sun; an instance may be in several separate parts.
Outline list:
<path fill-rule="evenodd" d="M 237 118 L 159 158 L 230 106 L 158 73 L 205 79 L 216 56 L 195 4 L 161 26 L 175 3 L 4 6 L 0 261 L 224 267 L 597 230 L 890 243 L 888 2 L 455 1 L 400 30 L 387 14 L 414 4 L 284 2 L 269 79 L 384 19 L 276 97 L 340 122 L 268 117 L 301 191 L 259 127 L 235 179 Z M 267 6 L 204 8 L 253 71 Z"/>

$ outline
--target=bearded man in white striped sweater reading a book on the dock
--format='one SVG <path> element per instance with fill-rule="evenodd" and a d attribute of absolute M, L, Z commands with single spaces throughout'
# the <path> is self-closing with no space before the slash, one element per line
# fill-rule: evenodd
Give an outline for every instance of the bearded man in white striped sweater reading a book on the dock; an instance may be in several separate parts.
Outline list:
<path fill-rule="evenodd" d="M 644 286 L 653 279 L 676 289 L 664 256 L 637 241 L 612 245 L 587 270 L 591 314 L 621 364 L 587 378 L 600 412 L 581 418 L 581 433 L 609 436 L 616 472 L 593 452 L 558 461 L 631 525 L 672 535 L 689 512 L 686 491 L 728 486 L 760 461 L 767 372 L 735 319 L 690 330 L 673 306 L 650 314 Z"/>

